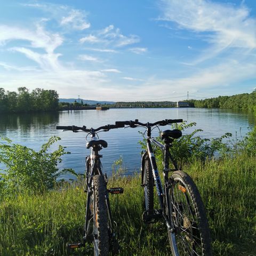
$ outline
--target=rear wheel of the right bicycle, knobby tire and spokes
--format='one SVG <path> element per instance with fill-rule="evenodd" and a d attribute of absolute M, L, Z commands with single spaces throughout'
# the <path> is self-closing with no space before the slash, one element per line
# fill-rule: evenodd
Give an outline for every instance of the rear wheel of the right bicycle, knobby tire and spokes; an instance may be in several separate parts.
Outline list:
<path fill-rule="evenodd" d="M 210 229 L 204 204 L 191 177 L 183 171 L 175 171 L 169 179 L 169 218 L 174 232 L 169 231 L 173 255 L 211 256 Z M 177 253 L 178 252 L 178 253 Z"/>

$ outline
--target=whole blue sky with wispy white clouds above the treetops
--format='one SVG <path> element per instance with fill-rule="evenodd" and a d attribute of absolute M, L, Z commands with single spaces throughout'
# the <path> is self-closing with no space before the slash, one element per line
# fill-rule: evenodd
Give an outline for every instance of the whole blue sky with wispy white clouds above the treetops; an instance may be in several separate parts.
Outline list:
<path fill-rule="evenodd" d="M 1 0 L 0 87 L 177 101 L 256 89 L 255 0 Z"/>

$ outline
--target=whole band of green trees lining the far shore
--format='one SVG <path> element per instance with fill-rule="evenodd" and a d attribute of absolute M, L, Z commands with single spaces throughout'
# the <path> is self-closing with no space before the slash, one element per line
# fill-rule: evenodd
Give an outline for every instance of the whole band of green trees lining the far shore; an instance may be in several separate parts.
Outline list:
<path fill-rule="evenodd" d="M 187 101 L 187 100 L 186 100 Z M 190 107 L 196 108 L 227 108 L 244 109 L 256 112 L 256 90 L 252 93 L 243 93 L 233 96 L 219 96 L 204 100 L 188 100 Z M 59 94 L 54 90 L 35 89 L 31 92 L 26 87 L 19 87 L 18 92 L 5 91 L 0 88 L 0 113 L 32 112 L 32 111 L 58 111 L 65 107 L 89 106 L 75 102 L 59 102 Z M 97 103 L 97 106 L 99 103 Z M 110 107 L 109 104 L 101 106 Z M 175 107 L 173 102 L 116 102 L 111 107 Z"/>

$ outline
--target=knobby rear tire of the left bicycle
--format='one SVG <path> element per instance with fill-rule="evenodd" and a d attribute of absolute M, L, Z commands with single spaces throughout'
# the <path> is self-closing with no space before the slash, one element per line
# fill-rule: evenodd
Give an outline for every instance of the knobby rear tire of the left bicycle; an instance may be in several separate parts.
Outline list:
<path fill-rule="evenodd" d="M 93 246 L 94 256 L 109 255 L 108 210 L 106 184 L 102 175 L 93 177 Z"/>

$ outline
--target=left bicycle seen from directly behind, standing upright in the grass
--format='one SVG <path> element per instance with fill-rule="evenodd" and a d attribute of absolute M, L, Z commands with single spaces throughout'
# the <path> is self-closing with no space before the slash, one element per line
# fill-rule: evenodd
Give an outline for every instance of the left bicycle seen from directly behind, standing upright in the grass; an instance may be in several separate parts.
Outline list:
<path fill-rule="evenodd" d="M 68 249 L 84 247 L 86 241 L 92 241 L 94 247 L 94 256 L 108 256 L 110 251 L 115 255 L 118 253 L 119 246 L 115 237 L 113 219 L 109 204 L 110 194 L 122 194 L 123 188 L 107 189 L 107 174 L 101 170 L 99 154 L 102 148 L 108 146 L 107 141 L 100 140 L 97 132 L 109 131 L 124 127 L 124 125 L 105 125 L 97 129 L 87 129 L 86 126 L 56 126 L 58 130 L 86 132 L 87 137 L 91 135 L 91 140 L 87 141 L 86 148 L 91 148 L 91 155 L 86 157 L 85 178 L 87 201 L 85 212 L 84 236 L 82 243 L 68 244 Z M 97 137 L 96 137 L 97 136 Z"/>

